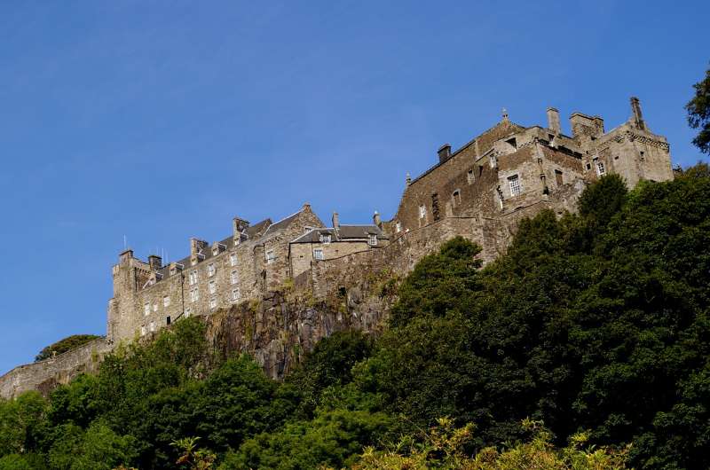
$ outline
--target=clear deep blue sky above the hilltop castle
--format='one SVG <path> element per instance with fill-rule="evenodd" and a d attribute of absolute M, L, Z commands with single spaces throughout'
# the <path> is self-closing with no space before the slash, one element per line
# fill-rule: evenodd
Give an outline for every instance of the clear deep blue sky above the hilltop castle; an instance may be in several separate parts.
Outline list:
<path fill-rule="evenodd" d="M 299 5 L 300 4 L 300 5 Z M 397 208 L 407 171 L 500 119 L 625 121 L 675 162 L 710 3 L 4 2 L 0 372 L 105 333 L 123 235 L 171 259 L 233 215 Z"/>

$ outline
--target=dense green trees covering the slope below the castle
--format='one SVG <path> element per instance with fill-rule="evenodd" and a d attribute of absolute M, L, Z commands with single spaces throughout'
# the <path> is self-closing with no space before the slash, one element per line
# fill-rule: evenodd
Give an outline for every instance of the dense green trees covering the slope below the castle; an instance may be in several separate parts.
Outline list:
<path fill-rule="evenodd" d="M 0 402 L 0 468 L 710 467 L 710 169 L 605 176 L 579 208 L 484 269 L 450 240 L 385 333 L 335 333 L 283 382 L 178 321 Z"/>

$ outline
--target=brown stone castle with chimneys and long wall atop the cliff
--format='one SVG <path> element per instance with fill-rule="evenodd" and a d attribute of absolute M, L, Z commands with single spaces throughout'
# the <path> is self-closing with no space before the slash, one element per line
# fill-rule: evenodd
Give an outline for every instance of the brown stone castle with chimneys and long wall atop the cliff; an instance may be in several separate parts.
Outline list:
<path fill-rule="evenodd" d="M 323 297 L 373 270 L 406 274 L 457 235 L 477 242 L 490 262 L 505 251 L 522 218 L 543 208 L 573 211 L 584 187 L 607 173 L 623 176 L 632 188 L 642 179 L 673 178 L 667 139 L 651 132 L 637 98 L 631 98 L 629 120 L 609 131 L 601 117 L 574 113 L 572 136 L 566 136 L 555 108 L 547 118 L 545 127 L 525 127 L 503 110 L 501 121 L 455 152 L 442 145 L 431 168 L 415 178 L 407 174 L 389 221 L 375 212 L 372 224 L 344 224 L 334 213 L 326 226 L 306 203 L 277 222 L 235 217 L 229 237 L 211 244 L 191 239 L 190 254 L 178 262 L 163 264 L 157 255 L 143 261 L 124 251 L 112 270 L 106 338 L 48 360 L 60 365 L 8 372 L 0 378 L 0 396 L 91 371 L 96 360 L 89 364 L 89 356 L 180 317 L 209 316 L 284 286 Z M 359 327 L 367 328 L 367 321 Z"/>

